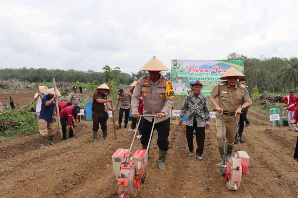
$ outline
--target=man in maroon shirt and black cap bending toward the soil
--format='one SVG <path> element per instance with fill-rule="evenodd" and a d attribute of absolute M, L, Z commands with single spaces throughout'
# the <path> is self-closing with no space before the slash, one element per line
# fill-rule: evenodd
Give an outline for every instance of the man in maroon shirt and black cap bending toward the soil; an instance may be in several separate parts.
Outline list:
<path fill-rule="evenodd" d="M 73 126 L 74 122 L 72 118 L 75 118 L 75 121 L 77 122 L 77 114 L 80 113 L 80 107 L 77 105 L 71 105 L 65 107 L 60 112 L 60 121 L 62 126 L 62 133 L 63 133 L 63 140 L 66 140 L 66 123 L 68 122 L 69 125 L 69 134 L 68 137 L 72 138 L 76 136 L 75 128 Z M 73 135 L 75 134 L 75 135 Z"/>

